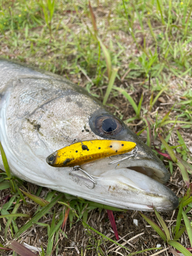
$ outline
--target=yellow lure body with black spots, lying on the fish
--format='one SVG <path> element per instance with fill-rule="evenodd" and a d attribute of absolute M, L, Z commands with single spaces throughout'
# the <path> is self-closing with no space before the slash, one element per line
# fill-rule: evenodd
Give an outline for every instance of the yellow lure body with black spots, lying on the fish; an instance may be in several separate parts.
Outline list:
<path fill-rule="evenodd" d="M 72 167 L 100 158 L 124 154 L 133 150 L 136 143 L 120 140 L 86 140 L 63 147 L 47 157 L 54 167 Z"/>

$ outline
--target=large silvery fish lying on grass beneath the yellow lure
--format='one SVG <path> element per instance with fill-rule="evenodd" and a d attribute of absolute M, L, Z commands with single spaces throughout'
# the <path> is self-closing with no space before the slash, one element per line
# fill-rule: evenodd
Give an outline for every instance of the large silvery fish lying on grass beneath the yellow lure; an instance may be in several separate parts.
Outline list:
<path fill-rule="evenodd" d="M 0 140 L 12 175 L 80 198 L 122 209 L 173 210 L 178 198 L 163 185 L 170 177 L 162 161 L 122 120 L 86 90 L 66 78 L 0 60 Z M 137 154 L 124 153 L 53 167 L 47 157 L 77 139 L 130 141 Z M 131 157 L 132 156 L 132 157 Z M 121 161 L 122 160 L 122 161 Z M 110 164 L 113 162 L 116 164 Z M 0 168 L 5 170 L 0 157 Z M 85 186 L 85 183 L 89 186 Z"/>

